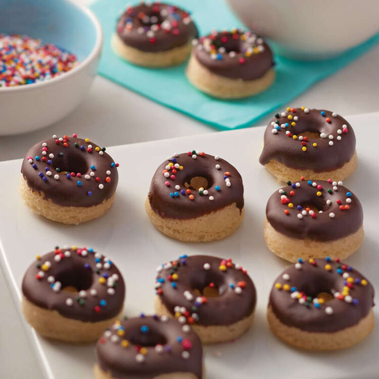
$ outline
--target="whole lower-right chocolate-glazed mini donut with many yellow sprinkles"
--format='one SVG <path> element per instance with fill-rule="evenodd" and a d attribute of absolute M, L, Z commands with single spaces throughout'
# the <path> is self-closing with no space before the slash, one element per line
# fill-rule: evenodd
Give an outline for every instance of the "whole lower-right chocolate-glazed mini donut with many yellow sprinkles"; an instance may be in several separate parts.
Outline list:
<path fill-rule="evenodd" d="M 299 259 L 276 278 L 267 319 L 273 333 L 291 345 L 343 349 L 372 331 L 373 297 L 368 280 L 339 259 Z"/>

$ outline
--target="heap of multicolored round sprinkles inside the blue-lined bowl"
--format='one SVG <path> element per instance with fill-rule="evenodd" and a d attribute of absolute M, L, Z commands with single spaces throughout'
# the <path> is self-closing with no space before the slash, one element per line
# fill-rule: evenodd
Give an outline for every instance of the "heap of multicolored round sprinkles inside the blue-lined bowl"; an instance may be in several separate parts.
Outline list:
<path fill-rule="evenodd" d="M 54 44 L 0 33 L 0 88 L 52 79 L 78 64 L 74 54 Z"/>

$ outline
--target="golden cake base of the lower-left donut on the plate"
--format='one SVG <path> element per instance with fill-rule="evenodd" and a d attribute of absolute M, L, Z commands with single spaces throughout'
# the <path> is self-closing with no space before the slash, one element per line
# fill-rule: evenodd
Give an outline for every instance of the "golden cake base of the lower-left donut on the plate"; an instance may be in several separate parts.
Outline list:
<path fill-rule="evenodd" d="M 84 322 L 62 316 L 56 310 L 41 308 L 23 296 L 22 313 L 26 321 L 41 336 L 69 343 L 84 343 L 98 340 L 104 330 L 122 316 L 122 310 L 116 316 L 97 322 Z"/>

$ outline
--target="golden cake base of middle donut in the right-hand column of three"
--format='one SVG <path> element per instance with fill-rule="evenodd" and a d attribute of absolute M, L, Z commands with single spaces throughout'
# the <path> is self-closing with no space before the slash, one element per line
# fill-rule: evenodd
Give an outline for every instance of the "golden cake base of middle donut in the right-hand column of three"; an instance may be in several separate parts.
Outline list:
<path fill-rule="evenodd" d="M 355 253 L 362 244 L 363 225 L 354 233 L 334 241 L 314 241 L 296 239 L 275 230 L 267 218 L 264 220 L 264 240 L 269 250 L 278 257 L 290 262 L 297 262 L 298 258 L 325 258 L 341 260 Z"/>

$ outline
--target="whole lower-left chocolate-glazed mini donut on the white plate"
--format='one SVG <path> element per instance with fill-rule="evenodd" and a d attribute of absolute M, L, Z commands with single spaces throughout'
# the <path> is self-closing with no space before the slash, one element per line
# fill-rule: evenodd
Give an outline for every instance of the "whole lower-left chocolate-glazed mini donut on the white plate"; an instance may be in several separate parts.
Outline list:
<path fill-rule="evenodd" d="M 125 285 L 114 263 L 93 249 L 56 247 L 29 266 L 22 293 L 25 319 L 39 334 L 86 342 L 120 317 Z"/>

